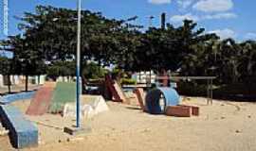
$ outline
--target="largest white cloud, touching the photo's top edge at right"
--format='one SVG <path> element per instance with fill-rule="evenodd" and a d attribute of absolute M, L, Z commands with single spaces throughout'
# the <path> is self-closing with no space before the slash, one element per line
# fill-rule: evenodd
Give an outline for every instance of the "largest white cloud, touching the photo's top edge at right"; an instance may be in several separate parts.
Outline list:
<path fill-rule="evenodd" d="M 199 0 L 192 8 L 204 12 L 227 11 L 233 8 L 233 2 L 232 0 Z"/>

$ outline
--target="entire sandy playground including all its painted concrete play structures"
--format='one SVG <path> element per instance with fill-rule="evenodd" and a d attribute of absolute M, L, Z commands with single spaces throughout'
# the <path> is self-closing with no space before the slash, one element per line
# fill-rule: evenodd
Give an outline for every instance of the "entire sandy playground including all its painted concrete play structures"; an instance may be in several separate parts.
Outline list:
<path fill-rule="evenodd" d="M 1 149 L 256 149 L 256 138 L 250 135 L 256 130 L 255 104 L 212 99 L 210 85 L 206 97 L 182 96 L 165 85 L 169 78 L 157 77 L 153 88 L 140 84 L 127 89 L 110 75 L 101 89 L 87 83 L 92 93 L 104 91 L 81 93 L 80 122 L 86 130 L 79 134 L 65 130 L 77 122 L 74 82 L 46 81 L 31 92 L 3 95 Z"/>

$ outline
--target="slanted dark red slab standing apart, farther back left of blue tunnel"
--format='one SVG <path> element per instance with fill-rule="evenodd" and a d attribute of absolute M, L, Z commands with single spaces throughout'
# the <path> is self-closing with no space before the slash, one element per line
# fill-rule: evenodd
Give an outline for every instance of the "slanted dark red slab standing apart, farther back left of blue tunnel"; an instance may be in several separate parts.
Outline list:
<path fill-rule="evenodd" d="M 115 102 L 127 102 L 126 98 L 119 88 L 119 85 L 116 81 L 114 81 L 110 76 L 105 76 L 105 82 L 108 90 L 113 95 L 113 101 Z"/>

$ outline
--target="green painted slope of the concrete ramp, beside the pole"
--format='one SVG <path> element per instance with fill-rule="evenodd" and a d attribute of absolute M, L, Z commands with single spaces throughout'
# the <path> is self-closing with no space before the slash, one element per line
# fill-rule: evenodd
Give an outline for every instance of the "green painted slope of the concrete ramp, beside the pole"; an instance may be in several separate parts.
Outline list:
<path fill-rule="evenodd" d="M 61 112 L 64 104 L 75 102 L 76 100 L 76 83 L 75 82 L 58 82 L 53 92 L 49 112 Z"/>

